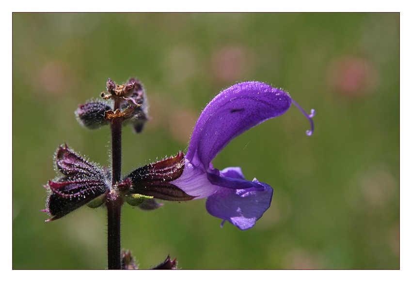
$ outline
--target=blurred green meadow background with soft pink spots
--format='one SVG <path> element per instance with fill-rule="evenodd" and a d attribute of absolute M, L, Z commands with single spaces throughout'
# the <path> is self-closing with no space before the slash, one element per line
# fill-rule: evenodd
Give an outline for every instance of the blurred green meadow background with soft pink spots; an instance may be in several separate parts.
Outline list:
<path fill-rule="evenodd" d="M 168 254 L 183 269 L 399 268 L 399 14 L 13 14 L 13 268 L 105 268 L 106 215 L 80 208 L 45 223 L 43 185 L 66 142 L 109 163 L 109 128 L 73 112 L 110 77 L 137 76 L 152 120 L 123 130 L 123 173 L 186 149 L 205 105 L 257 80 L 292 105 L 213 161 L 274 189 L 240 231 L 205 200 L 125 206 L 122 246 L 141 268 Z"/>

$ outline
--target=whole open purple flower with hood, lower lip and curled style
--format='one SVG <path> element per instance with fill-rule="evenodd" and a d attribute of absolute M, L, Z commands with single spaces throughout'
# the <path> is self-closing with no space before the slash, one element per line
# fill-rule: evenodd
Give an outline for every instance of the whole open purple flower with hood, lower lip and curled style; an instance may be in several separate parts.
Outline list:
<path fill-rule="evenodd" d="M 181 177 L 171 181 L 195 199 L 205 198 L 207 211 L 241 230 L 254 226 L 269 208 L 273 189 L 245 180 L 239 167 L 213 168 L 211 161 L 236 136 L 259 123 L 284 114 L 290 96 L 261 82 L 243 82 L 218 94 L 203 110 L 190 139 Z M 296 104 L 304 113 L 301 107 Z M 313 132 L 312 117 L 309 118 Z"/>

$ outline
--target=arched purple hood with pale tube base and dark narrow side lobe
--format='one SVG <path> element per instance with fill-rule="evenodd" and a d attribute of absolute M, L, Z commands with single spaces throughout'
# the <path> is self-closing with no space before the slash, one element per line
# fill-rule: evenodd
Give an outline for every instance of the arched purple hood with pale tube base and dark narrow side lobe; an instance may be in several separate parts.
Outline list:
<path fill-rule="evenodd" d="M 261 82 L 243 82 L 223 90 L 197 120 L 185 156 L 185 170 L 172 183 L 197 198 L 208 197 L 219 187 L 263 187 L 240 178 L 222 178 L 210 162 L 233 138 L 284 114 L 290 104 L 286 92 Z"/>

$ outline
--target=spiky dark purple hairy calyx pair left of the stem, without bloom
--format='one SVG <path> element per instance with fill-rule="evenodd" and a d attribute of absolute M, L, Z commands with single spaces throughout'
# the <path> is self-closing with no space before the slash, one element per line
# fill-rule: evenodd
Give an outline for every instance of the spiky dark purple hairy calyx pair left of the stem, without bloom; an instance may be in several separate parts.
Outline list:
<path fill-rule="evenodd" d="M 50 195 L 43 211 L 52 217 L 48 221 L 59 219 L 89 203 L 110 187 L 103 170 L 84 160 L 67 145 L 57 149 L 55 158 L 57 169 L 65 177 L 48 181 L 46 186 Z"/>

